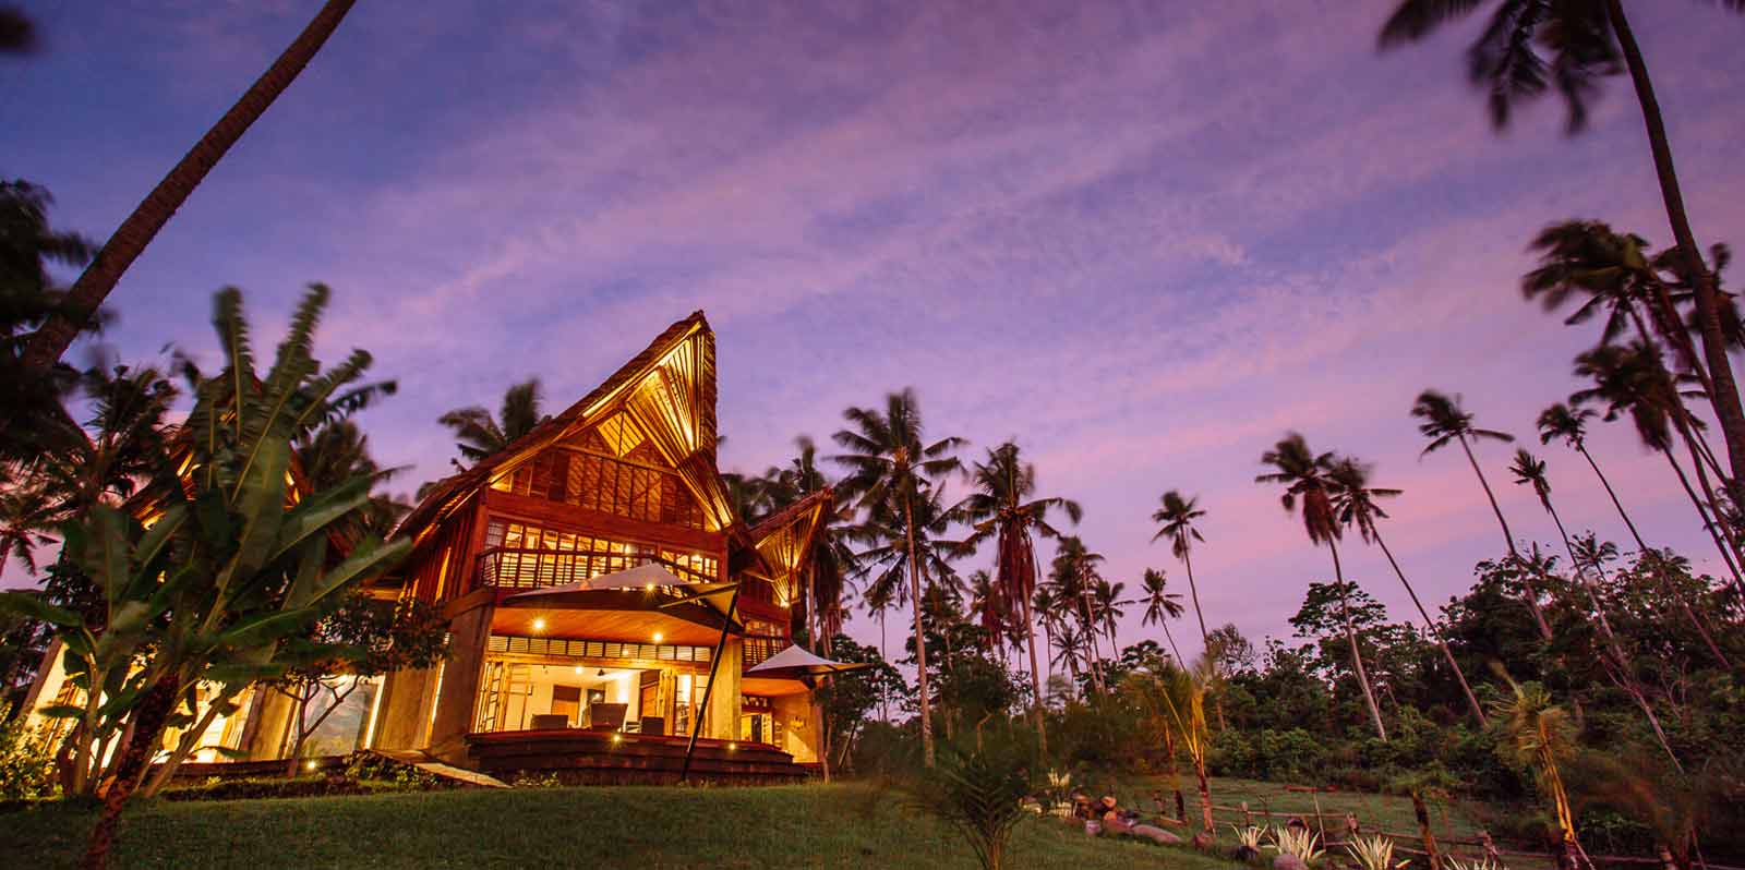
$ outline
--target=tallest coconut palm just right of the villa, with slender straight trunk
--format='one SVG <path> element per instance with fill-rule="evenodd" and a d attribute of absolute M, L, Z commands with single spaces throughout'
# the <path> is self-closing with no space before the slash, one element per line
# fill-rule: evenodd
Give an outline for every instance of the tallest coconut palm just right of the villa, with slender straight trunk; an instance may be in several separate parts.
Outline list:
<path fill-rule="evenodd" d="M 927 638 L 921 624 L 921 561 L 914 547 L 914 507 L 932 481 L 960 469 L 953 455 L 961 438 L 923 441 L 921 408 L 913 389 L 885 398 L 885 410 L 848 408 L 850 429 L 836 432 L 846 453 L 832 457 L 848 471 L 843 490 L 864 509 L 881 506 L 904 518 L 909 554 L 909 605 L 914 610 L 916 675 L 921 690 L 921 755 L 934 765 L 934 724 L 927 685 Z"/>

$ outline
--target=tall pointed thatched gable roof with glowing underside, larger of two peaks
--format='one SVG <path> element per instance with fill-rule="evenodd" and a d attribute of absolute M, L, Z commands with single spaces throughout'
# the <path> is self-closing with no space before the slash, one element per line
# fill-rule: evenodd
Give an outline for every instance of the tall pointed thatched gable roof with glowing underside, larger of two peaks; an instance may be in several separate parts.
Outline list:
<path fill-rule="evenodd" d="M 497 474 L 616 410 L 630 411 L 651 434 L 660 436 L 654 439 L 656 446 L 668 453 L 679 476 L 703 504 L 710 527 L 731 534 L 740 518 L 733 513 L 733 502 L 715 469 L 715 336 L 698 310 L 661 331 L 581 401 L 497 453 L 435 485 L 394 535 L 421 539 Z"/>

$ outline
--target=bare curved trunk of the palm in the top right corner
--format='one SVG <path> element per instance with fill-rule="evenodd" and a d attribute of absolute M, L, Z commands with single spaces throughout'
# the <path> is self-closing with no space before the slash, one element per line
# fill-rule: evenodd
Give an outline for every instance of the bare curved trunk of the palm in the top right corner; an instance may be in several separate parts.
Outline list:
<path fill-rule="evenodd" d="M 1654 155 L 1654 173 L 1659 180 L 1659 194 L 1666 206 L 1666 221 L 1679 244 L 1679 253 L 1686 260 L 1689 281 L 1696 296 L 1696 326 L 1703 336 L 1703 357 L 1708 361 L 1708 377 L 1714 389 L 1708 401 L 1721 422 L 1721 432 L 1728 443 L 1728 460 L 1733 467 L 1733 479 L 1745 479 L 1745 408 L 1740 406 L 1738 382 L 1733 378 L 1733 364 L 1728 359 L 1728 340 L 1721 328 L 1721 300 L 1715 279 L 1703 263 L 1701 248 L 1691 232 L 1691 218 L 1684 209 L 1684 194 L 1679 190 L 1679 173 L 1672 164 L 1672 143 L 1666 138 L 1666 124 L 1659 113 L 1659 101 L 1654 96 L 1654 84 L 1647 75 L 1647 61 L 1630 30 L 1621 0 L 1605 0 L 1605 14 L 1611 17 L 1612 33 L 1623 51 L 1625 65 L 1630 70 L 1630 82 L 1635 85 L 1637 101 L 1642 106 L 1642 124 L 1647 131 L 1649 152 Z"/>

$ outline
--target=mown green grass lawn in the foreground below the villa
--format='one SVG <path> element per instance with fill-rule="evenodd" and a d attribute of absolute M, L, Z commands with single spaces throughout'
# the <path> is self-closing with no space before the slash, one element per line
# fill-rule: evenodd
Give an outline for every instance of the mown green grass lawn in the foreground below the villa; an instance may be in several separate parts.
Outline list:
<path fill-rule="evenodd" d="M 92 811 L 0 816 L 0 867 L 75 867 Z M 1066 823 L 1019 826 L 1019 867 L 1228 870 L 1235 865 Z M 864 785 L 782 788 L 522 788 L 368 797 L 143 802 L 124 816 L 117 868 L 370 870 L 464 867 L 974 868 L 963 839 Z"/>

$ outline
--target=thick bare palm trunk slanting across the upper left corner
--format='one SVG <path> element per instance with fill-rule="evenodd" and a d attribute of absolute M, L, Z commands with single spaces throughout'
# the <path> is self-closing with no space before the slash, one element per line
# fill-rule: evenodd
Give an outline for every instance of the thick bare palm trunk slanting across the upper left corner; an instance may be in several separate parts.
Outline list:
<path fill-rule="evenodd" d="M 309 61 L 321 51 L 321 45 L 333 35 L 333 30 L 339 28 L 339 23 L 346 17 L 346 12 L 351 12 L 354 3 L 356 0 L 328 0 L 323 3 L 316 17 L 309 21 L 309 26 L 272 61 L 272 66 L 243 92 L 236 105 L 206 131 L 206 136 L 201 136 L 201 141 L 194 143 L 194 148 L 147 194 L 145 201 L 115 230 L 115 235 L 110 235 L 103 242 L 96 258 L 68 289 L 66 314 L 49 317 L 37 330 L 37 335 L 31 336 L 30 347 L 24 350 L 24 366 L 28 371 L 45 371 L 61 359 L 66 347 L 73 343 L 73 336 L 86 326 L 92 312 L 103 305 L 110 291 L 115 289 L 127 267 L 145 253 L 145 246 L 152 244 L 157 232 L 169 223 L 169 218 L 188 201 L 194 188 L 218 166 L 225 152 L 297 80 L 297 73 L 304 71 L 304 66 L 309 66 Z"/>

